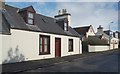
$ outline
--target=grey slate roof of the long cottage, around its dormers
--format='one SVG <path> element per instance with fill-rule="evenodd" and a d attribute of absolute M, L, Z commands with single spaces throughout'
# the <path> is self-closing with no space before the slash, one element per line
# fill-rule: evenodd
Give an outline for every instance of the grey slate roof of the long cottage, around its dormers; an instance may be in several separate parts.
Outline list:
<path fill-rule="evenodd" d="M 9 5 L 6 5 L 5 8 L 6 8 L 6 12 L 3 14 L 5 16 L 6 21 L 3 22 L 8 22 L 8 24 L 10 24 L 10 28 L 80 37 L 80 35 L 71 27 L 69 27 L 68 32 L 65 32 L 55 22 L 54 18 L 36 13 L 34 18 L 35 25 L 26 25 L 25 21 L 18 13 L 18 10 L 21 9 Z M 25 9 L 26 8 L 23 8 L 23 10 Z"/>

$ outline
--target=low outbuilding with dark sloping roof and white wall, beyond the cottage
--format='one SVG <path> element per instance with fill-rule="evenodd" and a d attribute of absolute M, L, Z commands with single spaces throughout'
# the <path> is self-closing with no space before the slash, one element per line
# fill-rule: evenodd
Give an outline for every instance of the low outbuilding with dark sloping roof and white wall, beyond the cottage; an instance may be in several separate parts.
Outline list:
<path fill-rule="evenodd" d="M 101 40 L 103 36 L 89 36 L 86 39 L 88 52 L 100 52 L 109 50 L 106 40 Z"/>

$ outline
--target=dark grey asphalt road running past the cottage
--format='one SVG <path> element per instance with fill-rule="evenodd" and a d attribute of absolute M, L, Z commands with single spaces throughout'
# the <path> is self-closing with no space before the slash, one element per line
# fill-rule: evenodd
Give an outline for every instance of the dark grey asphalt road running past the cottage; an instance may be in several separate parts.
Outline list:
<path fill-rule="evenodd" d="M 115 52 L 93 55 L 27 72 L 118 72 L 118 55 Z"/>

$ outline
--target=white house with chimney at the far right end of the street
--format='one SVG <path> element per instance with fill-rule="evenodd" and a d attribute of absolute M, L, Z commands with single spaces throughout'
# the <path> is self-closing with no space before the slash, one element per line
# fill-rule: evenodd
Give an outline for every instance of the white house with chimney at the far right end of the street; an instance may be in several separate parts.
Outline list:
<path fill-rule="evenodd" d="M 116 48 L 118 48 L 118 35 L 116 35 L 117 36 L 116 37 L 113 34 L 114 34 L 114 32 L 112 32 L 110 30 L 103 31 L 103 27 L 101 27 L 101 25 L 99 25 L 99 27 L 97 28 L 96 36 L 102 35 L 101 40 L 103 40 L 105 42 L 107 41 L 107 43 L 110 44 L 109 49 L 116 49 Z"/>

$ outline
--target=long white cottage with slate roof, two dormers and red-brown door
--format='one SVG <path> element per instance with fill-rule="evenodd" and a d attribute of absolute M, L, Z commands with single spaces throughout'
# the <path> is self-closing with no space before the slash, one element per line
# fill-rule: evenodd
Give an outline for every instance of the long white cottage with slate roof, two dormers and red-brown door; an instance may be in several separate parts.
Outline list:
<path fill-rule="evenodd" d="M 5 5 L 0 14 L 0 64 L 82 53 L 80 35 L 72 29 L 66 9 L 51 18 L 32 6 Z"/>

